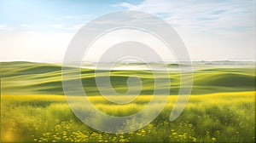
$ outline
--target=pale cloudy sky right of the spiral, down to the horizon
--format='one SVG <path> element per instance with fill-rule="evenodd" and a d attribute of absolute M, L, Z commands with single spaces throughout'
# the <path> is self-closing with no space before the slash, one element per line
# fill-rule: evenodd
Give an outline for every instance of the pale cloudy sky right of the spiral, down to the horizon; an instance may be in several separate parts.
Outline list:
<path fill-rule="evenodd" d="M 255 60 L 253 0 L 145 0 L 114 6 L 166 20 L 182 37 L 193 60 Z"/>

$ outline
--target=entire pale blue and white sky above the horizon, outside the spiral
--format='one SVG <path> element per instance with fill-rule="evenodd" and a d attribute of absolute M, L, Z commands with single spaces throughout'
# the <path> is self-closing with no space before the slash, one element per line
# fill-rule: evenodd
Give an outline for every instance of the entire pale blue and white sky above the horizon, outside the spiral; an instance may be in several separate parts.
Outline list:
<path fill-rule="evenodd" d="M 61 62 L 79 28 L 119 10 L 144 11 L 166 20 L 183 39 L 191 60 L 255 60 L 255 4 L 255 0 L 0 0 L 0 61 Z M 88 60 L 100 56 L 97 51 L 101 49 Z"/>

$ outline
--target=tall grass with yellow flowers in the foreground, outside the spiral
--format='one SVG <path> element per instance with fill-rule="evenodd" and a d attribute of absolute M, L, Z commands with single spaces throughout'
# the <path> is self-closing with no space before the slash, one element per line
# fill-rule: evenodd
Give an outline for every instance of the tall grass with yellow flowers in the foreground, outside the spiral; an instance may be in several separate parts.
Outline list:
<path fill-rule="evenodd" d="M 177 96 L 170 96 L 159 117 L 143 129 L 126 134 L 108 134 L 90 129 L 74 116 L 64 96 L 3 95 L 1 141 L 253 142 L 254 94 L 233 92 L 192 95 L 181 116 L 173 122 L 169 122 L 168 118 Z M 91 96 L 89 99 L 102 112 L 127 116 L 147 106 L 151 96 L 141 95 L 127 105 L 115 105 L 101 96 Z M 96 122 L 100 123 L 101 120 L 96 119 Z"/>

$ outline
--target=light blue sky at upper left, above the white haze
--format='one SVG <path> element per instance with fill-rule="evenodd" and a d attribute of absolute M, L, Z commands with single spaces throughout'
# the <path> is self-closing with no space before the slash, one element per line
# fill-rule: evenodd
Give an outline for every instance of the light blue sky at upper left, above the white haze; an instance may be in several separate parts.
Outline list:
<path fill-rule="evenodd" d="M 67 30 L 96 16 L 124 9 L 114 7 L 116 3 L 120 1 L 0 0 L 0 23 L 18 31 L 29 27 L 36 31 L 52 31 L 61 26 L 62 30 Z"/>

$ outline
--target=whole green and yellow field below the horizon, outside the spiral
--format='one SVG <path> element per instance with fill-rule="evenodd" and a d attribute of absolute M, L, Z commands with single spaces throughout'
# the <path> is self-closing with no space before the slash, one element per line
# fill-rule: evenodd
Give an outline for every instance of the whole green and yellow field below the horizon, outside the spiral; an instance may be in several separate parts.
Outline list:
<path fill-rule="evenodd" d="M 170 65 L 173 66 L 173 65 Z M 170 72 L 168 103 L 143 129 L 125 134 L 90 129 L 70 110 L 61 84 L 61 66 L 32 62 L 1 63 L 2 142 L 253 142 L 255 140 L 254 66 L 197 66 L 189 103 L 173 122 L 179 74 Z M 70 68 L 70 72 L 73 68 Z M 127 116 L 146 106 L 154 92 L 149 71 L 112 71 L 113 88 L 127 91 L 126 79 L 141 77 L 137 100 L 115 105 L 100 96 L 94 70 L 81 69 L 84 90 L 94 105 L 109 115 Z M 102 71 L 102 76 L 105 72 Z M 73 80 L 72 77 L 68 80 Z M 161 83 L 162 88 L 170 88 Z M 83 98 L 76 96 L 75 98 Z M 118 97 L 124 98 L 124 97 Z M 158 98 L 162 98 L 158 95 Z M 87 111 L 90 112 L 90 111 Z M 96 119 L 101 122 L 100 119 Z M 132 126 L 132 124 L 131 124 Z"/>

